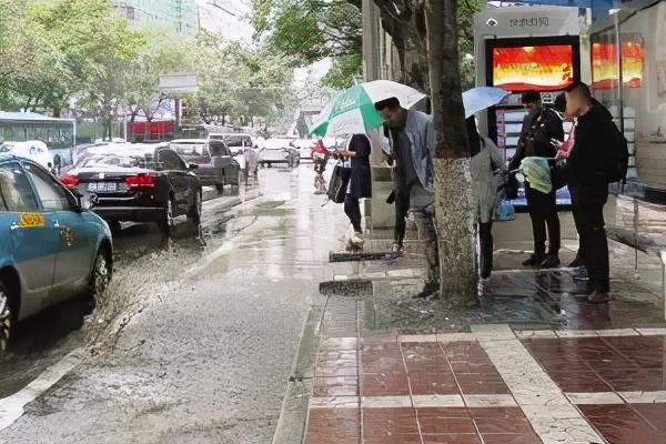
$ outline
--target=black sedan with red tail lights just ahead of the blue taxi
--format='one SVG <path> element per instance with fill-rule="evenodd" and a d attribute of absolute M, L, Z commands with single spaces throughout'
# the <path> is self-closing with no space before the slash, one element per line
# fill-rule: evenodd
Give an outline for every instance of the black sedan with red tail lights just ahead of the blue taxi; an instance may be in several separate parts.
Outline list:
<path fill-rule="evenodd" d="M 90 199 L 112 230 L 120 222 L 154 222 L 169 235 L 178 216 L 201 223 L 195 169 L 163 144 L 112 143 L 85 150 L 60 181 Z"/>

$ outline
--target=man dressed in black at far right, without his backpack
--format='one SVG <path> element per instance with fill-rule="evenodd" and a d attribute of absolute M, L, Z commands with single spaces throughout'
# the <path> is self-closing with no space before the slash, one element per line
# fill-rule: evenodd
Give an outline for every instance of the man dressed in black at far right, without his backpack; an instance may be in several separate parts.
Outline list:
<path fill-rule="evenodd" d="M 577 117 L 575 142 L 565 167 L 572 196 L 572 210 L 581 238 L 581 251 L 592 292 L 593 303 L 608 302 L 608 241 L 604 230 L 604 204 L 608 200 L 608 181 L 604 157 L 607 134 L 617 131 L 610 113 L 592 98 L 585 83 L 566 91 L 566 113 Z"/>

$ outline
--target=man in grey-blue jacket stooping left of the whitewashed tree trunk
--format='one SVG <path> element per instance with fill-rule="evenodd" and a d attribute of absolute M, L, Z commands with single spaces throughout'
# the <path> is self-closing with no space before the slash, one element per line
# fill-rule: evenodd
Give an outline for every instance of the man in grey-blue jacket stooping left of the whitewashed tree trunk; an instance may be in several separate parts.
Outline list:
<path fill-rule="evenodd" d="M 375 103 L 390 128 L 391 157 L 397 161 L 397 181 L 410 195 L 418 238 L 425 241 L 427 281 L 417 297 L 440 292 L 440 254 L 435 231 L 434 153 L 435 132 L 432 117 L 406 110 L 395 98 Z"/>

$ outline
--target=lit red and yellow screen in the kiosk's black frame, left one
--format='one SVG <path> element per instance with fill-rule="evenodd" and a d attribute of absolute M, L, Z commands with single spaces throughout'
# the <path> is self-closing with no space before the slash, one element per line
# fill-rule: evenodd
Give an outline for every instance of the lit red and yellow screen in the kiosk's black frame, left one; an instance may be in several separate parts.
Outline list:
<path fill-rule="evenodd" d="M 562 90 L 574 82 L 571 44 L 493 49 L 493 83 L 511 92 Z"/>

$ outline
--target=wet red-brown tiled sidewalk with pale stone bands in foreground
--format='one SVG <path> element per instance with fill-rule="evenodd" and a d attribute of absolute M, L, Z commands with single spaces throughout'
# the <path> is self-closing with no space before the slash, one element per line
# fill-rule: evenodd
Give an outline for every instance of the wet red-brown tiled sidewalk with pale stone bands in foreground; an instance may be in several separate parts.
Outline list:
<path fill-rule="evenodd" d="M 361 337 L 326 307 L 310 444 L 666 443 L 666 330 Z"/>

